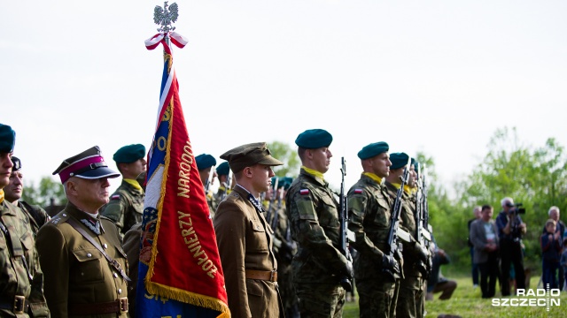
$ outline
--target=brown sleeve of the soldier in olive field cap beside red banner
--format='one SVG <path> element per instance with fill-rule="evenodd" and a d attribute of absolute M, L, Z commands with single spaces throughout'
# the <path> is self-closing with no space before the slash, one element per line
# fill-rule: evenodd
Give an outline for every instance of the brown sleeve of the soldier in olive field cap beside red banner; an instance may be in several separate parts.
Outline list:
<path fill-rule="evenodd" d="M 222 201 L 219 205 L 214 216 L 214 231 L 230 312 L 234 317 L 252 317 L 246 292 L 246 220 L 243 212 L 231 199 Z"/>

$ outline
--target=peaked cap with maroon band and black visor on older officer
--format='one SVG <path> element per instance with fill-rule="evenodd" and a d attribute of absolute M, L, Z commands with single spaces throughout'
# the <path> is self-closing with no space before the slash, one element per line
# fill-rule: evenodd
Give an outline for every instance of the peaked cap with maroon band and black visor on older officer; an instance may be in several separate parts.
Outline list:
<path fill-rule="evenodd" d="M 53 174 L 59 175 L 61 183 L 65 183 L 71 177 L 86 179 L 120 177 L 120 173 L 108 168 L 98 146 L 65 159 Z"/>

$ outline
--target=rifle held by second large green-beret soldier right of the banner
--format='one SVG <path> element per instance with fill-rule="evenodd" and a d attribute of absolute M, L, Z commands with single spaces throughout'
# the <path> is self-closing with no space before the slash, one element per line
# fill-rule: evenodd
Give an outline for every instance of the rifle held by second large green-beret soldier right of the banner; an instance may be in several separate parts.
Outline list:
<path fill-rule="evenodd" d="M 408 164 L 406 164 L 406 169 L 404 169 L 403 174 L 401 175 L 401 183 L 400 189 L 398 189 L 398 193 L 396 193 L 396 201 L 393 203 L 392 214 L 390 216 L 390 231 L 388 231 L 388 244 L 386 245 L 386 250 L 384 251 L 390 257 L 401 260 L 401 250 L 400 250 L 400 238 L 398 237 L 398 233 L 400 231 L 400 215 L 401 215 L 401 200 L 403 198 L 404 193 L 404 186 L 408 183 L 409 180 L 409 164 L 411 163 L 411 159 L 408 158 Z M 398 257 L 395 255 L 398 254 Z M 383 268 L 382 271 L 389 276 L 389 278 L 393 281 L 396 278 L 400 278 L 400 273 L 393 272 L 392 269 Z"/>

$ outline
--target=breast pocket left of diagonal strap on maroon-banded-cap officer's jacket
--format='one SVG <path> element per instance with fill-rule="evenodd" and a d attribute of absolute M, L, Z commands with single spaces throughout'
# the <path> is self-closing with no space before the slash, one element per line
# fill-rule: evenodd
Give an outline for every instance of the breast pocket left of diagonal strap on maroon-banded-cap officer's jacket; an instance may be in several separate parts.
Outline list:
<path fill-rule="evenodd" d="M 77 266 L 71 270 L 71 282 L 95 283 L 105 279 L 103 266 L 105 258 L 96 248 L 84 248 L 73 251 Z"/>

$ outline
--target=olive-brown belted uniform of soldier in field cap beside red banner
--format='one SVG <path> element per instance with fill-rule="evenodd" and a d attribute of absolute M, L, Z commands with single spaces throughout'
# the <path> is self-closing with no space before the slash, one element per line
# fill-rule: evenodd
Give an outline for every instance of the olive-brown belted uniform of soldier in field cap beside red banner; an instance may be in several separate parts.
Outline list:
<path fill-rule="evenodd" d="M 260 202 L 255 208 L 250 196 L 244 188 L 235 186 L 219 204 L 213 221 L 230 314 L 235 318 L 278 317 L 273 231 L 262 214 Z"/>

